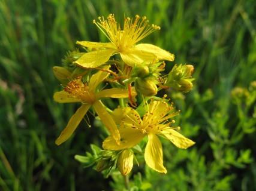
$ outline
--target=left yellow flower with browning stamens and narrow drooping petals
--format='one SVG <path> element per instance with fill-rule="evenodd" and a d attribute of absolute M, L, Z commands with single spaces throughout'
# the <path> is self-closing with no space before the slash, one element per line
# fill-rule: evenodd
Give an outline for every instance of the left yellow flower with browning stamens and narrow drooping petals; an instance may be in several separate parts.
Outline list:
<path fill-rule="evenodd" d="M 110 66 L 105 66 L 104 69 L 109 69 Z M 103 82 L 109 73 L 100 71 L 92 75 L 89 84 L 85 84 L 81 81 L 81 78 L 74 79 L 70 81 L 67 87 L 63 91 L 59 91 L 54 94 L 53 98 L 59 103 L 74 103 L 82 102 L 82 106 L 77 109 L 76 113 L 71 117 L 68 122 L 67 127 L 62 131 L 61 135 L 55 141 L 56 144 L 62 144 L 66 141 L 73 132 L 76 130 L 80 121 L 82 121 L 83 116 L 92 106 L 95 112 L 100 117 L 103 124 L 107 127 L 113 136 L 113 139 L 117 143 L 120 141 L 120 134 L 118 128 L 116 127 L 115 121 L 113 121 L 112 116 L 107 112 L 103 103 L 101 103 L 101 98 L 112 97 L 112 98 L 125 98 L 128 97 L 128 90 L 120 88 L 111 88 L 106 90 L 97 91 L 97 86 Z M 132 91 L 133 96 L 135 92 Z"/>

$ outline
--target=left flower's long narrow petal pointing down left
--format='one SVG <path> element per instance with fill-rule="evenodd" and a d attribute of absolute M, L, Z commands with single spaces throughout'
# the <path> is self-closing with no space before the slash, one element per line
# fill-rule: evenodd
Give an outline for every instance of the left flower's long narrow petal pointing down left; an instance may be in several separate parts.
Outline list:
<path fill-rule="evenodd" d="M 73 134 L 73 132 L 76 130 L 77 126 L 80 124 L 80 121 L 82 121 L 83 116 L 85 116 L 88 109 L 91 107 L 89 104 L 82 104 L 79 109 L 77 109 L 76 113 L 70 118 L 70 121 L 68 121 L 67 127 L 61 132 L 61 135 L 56 139 L 55 143 L 60 145 L 64 143 L 70 136 Z"/>

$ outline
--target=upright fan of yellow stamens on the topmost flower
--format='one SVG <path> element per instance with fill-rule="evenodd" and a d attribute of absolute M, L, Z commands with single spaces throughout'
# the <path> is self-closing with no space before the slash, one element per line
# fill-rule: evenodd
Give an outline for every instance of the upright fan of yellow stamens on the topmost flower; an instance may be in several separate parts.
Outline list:
<path fill-rule="evenodd" d="M 106 20 L 104 17 L 98 17 L 98 21 L 94 20 L 93 23 L 116 45 L 119 52 L 125 51 L 150 33 L 160 29 L 155 24 L 150 25 L 145 16 L 138 15 L 134 20 L 125 17 L 122 29 L 120 23 L 115 20 L 114 14 L 110 14 Z"/>

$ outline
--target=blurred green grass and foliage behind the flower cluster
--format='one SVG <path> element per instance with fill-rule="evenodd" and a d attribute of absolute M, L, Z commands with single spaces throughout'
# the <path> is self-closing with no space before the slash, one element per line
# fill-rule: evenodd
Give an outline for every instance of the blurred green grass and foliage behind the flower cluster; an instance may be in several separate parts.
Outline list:
<path fill-rule="evenodd" d="M 77 40 L 105 42 L 92 20 L 109 13 L 147 16 L 161 30 L 143 42 L 174 53 L 174 63 L 195 66 L 194 90 L 168 94 L 182 110 L 182 134 L 197 144 L 182 150 L 164 141 L 168 174 L 142 164 L 131 184 L 255 190 L 255 10 L 254 0 L 0 0 L 0 190 L 124 189 L 120 175 L 104 179 L 74 160 L 90 143 L 101 146 L 99 128 L 82 122 L 72 139 L 54 144 L 77 106 L 53 101 L 61 86 L 52 66 L 61 66 Z"/>

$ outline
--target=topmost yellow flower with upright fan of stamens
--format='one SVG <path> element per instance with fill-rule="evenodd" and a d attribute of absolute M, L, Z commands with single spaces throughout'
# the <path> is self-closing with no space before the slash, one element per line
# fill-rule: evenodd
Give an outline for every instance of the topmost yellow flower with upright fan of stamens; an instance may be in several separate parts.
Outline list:
<path fill-rule="evenodd" d="M 152 62 L 153 60 L 174 60 L 174 55 L 156 47 L 152 44 L 138 44 L 138 41 L 145 38 L 160 27 L 154 24 L 149 25 L 146 17 L 135 19 L 125 17 L 124 27 L 121 29 L 120 23 L 115 20 L 114 14 L 110 14 L 105 20 L 98 17 L 99 21 L 94 23 L 107 36 L 110 42 L 89 42 L 77 41 L 77 44 L 88 48 L 97 48 L 95 51 L 83 54 L 75 63 L 82 67 L 98 67 L 106 63 L 114 54 L 120 54 L 122 60 L 129 66 Z"/>

